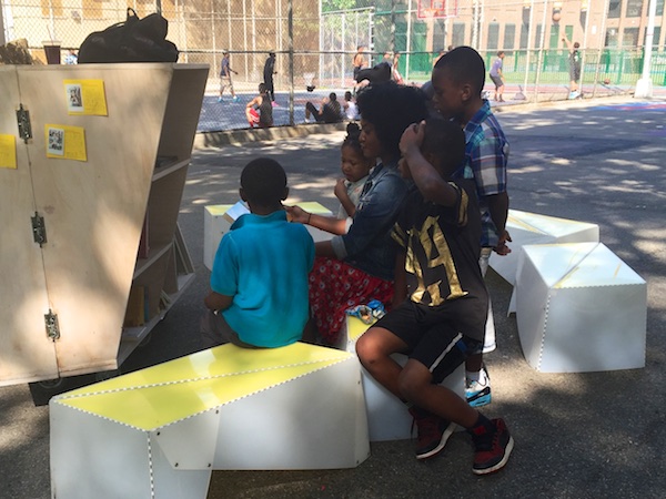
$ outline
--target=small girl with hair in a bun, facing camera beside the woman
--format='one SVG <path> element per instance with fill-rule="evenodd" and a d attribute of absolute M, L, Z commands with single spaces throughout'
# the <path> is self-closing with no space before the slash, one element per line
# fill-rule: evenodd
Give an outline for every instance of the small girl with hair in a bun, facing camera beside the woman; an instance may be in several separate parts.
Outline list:
<path fill-rule="evenodd" d="M 340 147 L 344 179 L 340 179 L 333 190 L 335 197 L 340 200 L 337 212 L 340 220 L 354 216 L 356 213 L 356 203 L 361 197 L 361 191 L 374 166 L 374 161 L 363 155 L 363 149 L 359 142 L 360 136 L 361 128 L 356 123 L 347 124 L 347 134 Z"/>

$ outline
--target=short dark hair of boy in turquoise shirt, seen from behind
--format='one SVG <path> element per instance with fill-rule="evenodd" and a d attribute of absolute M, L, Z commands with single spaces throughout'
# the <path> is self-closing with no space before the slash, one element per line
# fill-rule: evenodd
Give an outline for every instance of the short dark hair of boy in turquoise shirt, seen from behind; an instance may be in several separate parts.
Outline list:
<path fill-rule="evenodd" d="M 283 200 L 286 173 L 275 160 L 258 157 L 243 169 L 241 187 L 248 201 L 261 206 L 270 206 Z"/>

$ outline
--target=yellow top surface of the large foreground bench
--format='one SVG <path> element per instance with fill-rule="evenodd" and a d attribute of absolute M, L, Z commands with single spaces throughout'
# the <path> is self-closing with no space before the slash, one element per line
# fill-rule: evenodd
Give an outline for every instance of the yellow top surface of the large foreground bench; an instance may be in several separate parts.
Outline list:
<path fill-rule="evenodd" d="M 68 391 L 51 404 L 153 430 L 350 359 L 355 355 L 304 343 L 229 344 Z"/>

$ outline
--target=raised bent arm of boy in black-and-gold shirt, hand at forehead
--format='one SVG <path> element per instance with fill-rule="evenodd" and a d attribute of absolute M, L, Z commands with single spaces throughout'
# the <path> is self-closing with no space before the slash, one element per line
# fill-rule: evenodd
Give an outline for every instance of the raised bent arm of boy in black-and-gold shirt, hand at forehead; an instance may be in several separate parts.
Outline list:
<path fill-rule="evenodd" d="M 407 126 L 400 140 L 400 150 L 423 197 L 443 206 L 453 206 L 457 202 L 456 190 L 440 175 L 432 164 L 425 161 L 418 149 L 424 133 L 425 121 Z"/>

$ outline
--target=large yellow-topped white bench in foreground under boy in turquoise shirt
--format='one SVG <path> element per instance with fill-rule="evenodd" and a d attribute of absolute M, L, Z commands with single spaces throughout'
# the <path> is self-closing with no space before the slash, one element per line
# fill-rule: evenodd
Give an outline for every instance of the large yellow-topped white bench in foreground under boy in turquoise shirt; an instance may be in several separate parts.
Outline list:
<path fill-rule="evenodd" d="M 370 456 L 355 355 L 202 350 L 54 397 L 51 495 L 204 499 L 213 469 L 337 469 Z"/>

